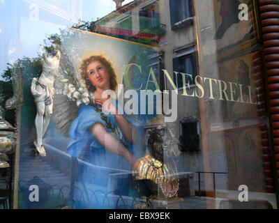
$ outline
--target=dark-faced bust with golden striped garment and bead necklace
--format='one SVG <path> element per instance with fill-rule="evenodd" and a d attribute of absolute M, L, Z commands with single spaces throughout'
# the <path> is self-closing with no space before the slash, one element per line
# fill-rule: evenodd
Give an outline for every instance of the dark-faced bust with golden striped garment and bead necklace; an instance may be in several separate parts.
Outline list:
<path fill-rule="evenodd" d="M 174 157 L 180 154 L 179 141 L 174 137 L 164 116 L 151 119 L 146 129 L 146 155 L 135 162 L 133 178 L 143 196 L 172 199 L 179 191 L 179 176 Z M 165 159 L 164 159 L 165 158 Z"/>

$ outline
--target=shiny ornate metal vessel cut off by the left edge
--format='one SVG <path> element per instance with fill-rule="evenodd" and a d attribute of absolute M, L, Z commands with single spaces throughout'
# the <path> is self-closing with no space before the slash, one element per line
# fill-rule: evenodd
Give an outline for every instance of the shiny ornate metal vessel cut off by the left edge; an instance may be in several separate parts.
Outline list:
<path fill-rule="evenodd" d="M 0 106 L 0 168 L 10 167 L 8 155 L 15 151 L 15 128 L 4 118 L 4 109 Z"/>

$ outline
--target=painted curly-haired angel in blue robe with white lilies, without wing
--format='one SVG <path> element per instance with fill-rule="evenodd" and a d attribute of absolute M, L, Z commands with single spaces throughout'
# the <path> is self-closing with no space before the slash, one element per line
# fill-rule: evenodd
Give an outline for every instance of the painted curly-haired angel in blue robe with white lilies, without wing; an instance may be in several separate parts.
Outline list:
<path fill-rule="evenodd" d="M 84 165 L 78 168 L 77 176 L 84 190 L 96 191 L 101 188 L 104 193 L 121 190 L 125 185 L 112 188 L 108 180 L 112 169 L 127 169 L 135 163 L 132 151 L 132 144 L 137 141 L 135 125 L 123 114 L 117 100 L 103 98 L 104 91 L 116 91 L 117 87 L 116 74 L 110 61 L 103 56 L 90 56 L 82 61 L 80 70 L 85 89 L 80 87 L 82 84 L 66 85 L 68 98 L 76 100 L 79 106 L 77 117 L 70 125 L 67 151 L 73 159 L 81 158 L 93 164 L 93 167 Z M 79 91 L 75 91 L 77 88 Z M 63 118 L 61 121 L 63 123 Z M 57 123 L 61 125 L 61 122 Z"/>

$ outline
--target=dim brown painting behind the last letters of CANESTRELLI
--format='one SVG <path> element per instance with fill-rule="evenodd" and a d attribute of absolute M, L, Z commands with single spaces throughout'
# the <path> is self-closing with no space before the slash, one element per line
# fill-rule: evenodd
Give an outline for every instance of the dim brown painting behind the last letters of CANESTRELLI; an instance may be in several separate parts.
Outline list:
<path fill-rule="evenodd" d="M 227 84 L 226 93 L 228 100 L 214 101 L 214 103 L 219 105 L 219 111 L 211 112 L 213 107 L 209 107 L 207 116 L 209 116 L 211 121 L 220 121 L 221 119 L 225 121 L 232 121 L 244 118 L 257 118 L 259 116 L 257 113 L 257 105 L 254 105 L 258 101 L 257 95 L 259 92 L 255 86 L 252 69 L 252 54 L 236 56 L 218 64 L 218 79 L 227 83 L 232 82 L 236 84 L 232 85 L 232 91 L 234 91 L 233 98 L 230 85 Z M 242 85 L 241 88 L 239 84 Z M 248 86 L 251 87 L 250 91 Z M 218 96 L 216 97 L 219 97 L 219 91 L 217 94 Z M 223 95 L 223 97 L 225 96 Z"/>

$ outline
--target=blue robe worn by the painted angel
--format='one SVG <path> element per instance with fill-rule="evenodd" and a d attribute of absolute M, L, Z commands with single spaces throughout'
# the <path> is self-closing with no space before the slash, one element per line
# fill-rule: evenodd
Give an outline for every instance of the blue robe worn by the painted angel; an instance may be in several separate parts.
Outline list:
<path fill-rule="evenodd" d="M 118 104 L 116 100 L 113 103 L 114 106 Z M 112 127 L 117 126 L 112 114 L 105 116 Z M 115 208 L 116 202 L 107 195 L 127 196 L 129 192 L 135 192 L 129 186 L 130 165 L 123 157 L 107 151 L 93 137 L 89 127 L 95 123 L 106 126 L 93 106 L 80 105 L 79 114 L 70 128 L 68 144 L 68 153 L 73 157 L 70 193 L 70 206 L 73 208 Z M 112 132 L 110 128 L 106 129 Z M 128 144 L 128 149 L 133 153 L 133 145 Z"/>

